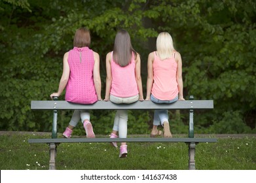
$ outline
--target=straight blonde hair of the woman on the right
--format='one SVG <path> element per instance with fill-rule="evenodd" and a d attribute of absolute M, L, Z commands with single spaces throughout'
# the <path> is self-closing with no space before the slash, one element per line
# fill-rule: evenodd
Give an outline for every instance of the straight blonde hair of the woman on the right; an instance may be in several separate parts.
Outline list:
<path fill-rule="evenodd" d="M 174 53 L 174 42 L 172 36 L 167 32 L 159 33 L 156 39 L 156 51 L 160 59 L 171 58 Z"/>

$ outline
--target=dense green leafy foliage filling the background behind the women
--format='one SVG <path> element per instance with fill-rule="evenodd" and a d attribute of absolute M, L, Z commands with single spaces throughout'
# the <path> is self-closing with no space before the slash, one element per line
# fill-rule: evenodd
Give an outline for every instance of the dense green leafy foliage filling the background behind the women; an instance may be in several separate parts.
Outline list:
<path fill-rule="evenodd" d="M 0 129 L 50 131 L 52 112 L 31 111 L 30 101 L 48 100 L 56 92 L 64 53 L 73 48 L 75 30 L 84 26 L 90 29 L 91 48 L 100 54 L 102 96 L 104 59 L 118 29 L 128 30 L 141 55 L 144 92 L 147 56 L 155 50 L 158 32 L 168 31 L 183 58 L 185 98 L 214 100 L 213 111 L 195 115 L 196 129 L 255 131 L 255 6 L 253 0 L 0 1 Z M 60 130 L 71 115 L 59 112 Z M 188 115 L 170 115 L 173 131 L 184 133 Z M 93 111 L 96 132 L 109 134 L 114 116 L 114 111 Z M 151 125 L 152 112 L 129 113 L 129 133 L 146 133 Z M 82 125 L 75 133 L 84 133 Z"/>

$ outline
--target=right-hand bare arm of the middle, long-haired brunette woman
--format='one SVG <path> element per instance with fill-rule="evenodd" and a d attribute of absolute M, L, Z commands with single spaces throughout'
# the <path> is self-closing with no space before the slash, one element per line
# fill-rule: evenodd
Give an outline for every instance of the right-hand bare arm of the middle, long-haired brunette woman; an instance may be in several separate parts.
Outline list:
<path fill-rule="evenodd" d="M 143 89 L 142 89 L 142 81 L 141 81 L 141 59 L 139 54 L 136 57 L 136 65 L 135 65 L 135 78 L 137 82 L 137 90 L 139 90 L 139 101 L 143 101 Z"/>

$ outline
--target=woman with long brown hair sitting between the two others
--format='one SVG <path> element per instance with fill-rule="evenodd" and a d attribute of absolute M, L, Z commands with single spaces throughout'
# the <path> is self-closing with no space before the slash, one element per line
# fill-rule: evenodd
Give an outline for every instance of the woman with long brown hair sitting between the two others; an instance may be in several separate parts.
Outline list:
<path fill-rule="evenodd" d="M 113 52 L 106 57 L 106 92 L 104 101 L 113 103 L 134 103 L 143 101 L 141 82 L 141 60 L 132 48 L 130 35 L 120 30 L 115 37 Z M 128 111 L 117 110 L 110 138 L 127 137 Z M 112 142 L 117 147 L 116 142 Z M 121 142 L 119 158 L 127 156 L 126 142 Z"/>

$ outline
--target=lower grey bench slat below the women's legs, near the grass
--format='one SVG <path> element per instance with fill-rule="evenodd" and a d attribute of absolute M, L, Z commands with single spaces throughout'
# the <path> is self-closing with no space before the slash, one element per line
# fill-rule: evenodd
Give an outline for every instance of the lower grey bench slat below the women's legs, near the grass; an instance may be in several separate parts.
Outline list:
<path fill-rule="evenodd" d="M 73 139 L 29 139 L 29 143 L 63 143 L 63 142 L 217 142 L 206 138 L 73 138 Z"/>

